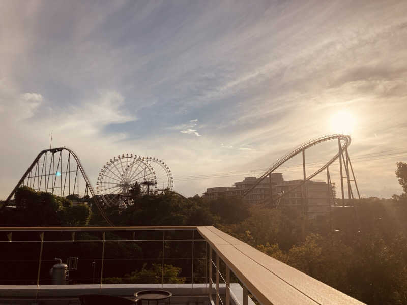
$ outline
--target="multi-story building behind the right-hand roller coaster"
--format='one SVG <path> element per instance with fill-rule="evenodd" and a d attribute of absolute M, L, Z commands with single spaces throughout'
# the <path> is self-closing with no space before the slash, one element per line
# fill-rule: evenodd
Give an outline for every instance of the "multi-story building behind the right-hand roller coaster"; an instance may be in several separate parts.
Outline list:
<path fill-rule="evenodd" d="M 209 199 L 222 196 L 242 196 L 257 181 L 256 177 L 246 177 L 231 187 L 208 188 L 203 196 Z M 268 177 L 261 181 L 245 196 L 245 201 L 249 204 L 267 203 L 270 202 L 271 194 L 273 202 L 276 203 L 276 199 L 283 195 L 278 202 L 280 205 L 300 207 L 307 211 L 310 218 L 326 215 L 329 212 L 329 206 L 333 203 L 335 186 L 331 185 L 330 190 L 326 182 L 307 181 L 305 185 L 301 186 L 302 183 L 303 180 L 285 181 L 282 173 L 272 173 L 271 180 Z"/>

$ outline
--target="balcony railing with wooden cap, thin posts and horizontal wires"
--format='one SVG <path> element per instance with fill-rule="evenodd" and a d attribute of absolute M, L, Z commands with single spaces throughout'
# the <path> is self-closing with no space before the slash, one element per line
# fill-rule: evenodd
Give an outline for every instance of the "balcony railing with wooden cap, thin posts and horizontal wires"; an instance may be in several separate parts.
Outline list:
<path fill-rule="evenodd" d="M 75 238 L 75 236 L 83 232 L 99 234 L 101 237 L 100 239 L 86 239 L 82 235 L 80 240 Z M 150 236 L 154 235 L 155 237 L 148 237 L 149 235 L 146 235 L 146 232 L 150 232 Z M 37 233 L 38 238 L 35 240 L 34 238 L 24 238 L 27 234 Z M 116 236 L 126 236 L 126 238 L 108 239 L 106 233 L 115 233 Z M 141 235 L 143 238 L 137 237 Z M 174 238 L 176 235 L 181 237 Z M 51 239 L 47 238 L 48 236 Z M 55 236 L 64 236 L 64 238 L 54 238 Z M 192 289 L 203 289 L 202 291 L 206 292 L 215 305 L 230 305 L 231 302 L 236 303 L 239 300 L 242 305 L 248 305 L 248 302 L 252 303 L 248 297 L 249 295 L 263 305 L 361 304 L 356 299 L 279 262 L 213 226 L 3 227 L 0 228 L 0 238 L 2 238 L 0 239 L 0 248 L 2 248 L 3 252 L 7 251 L 7 244 L 22 243 L 39 246 L 37 247 L 38 252 L 32 254 L 38 258 L 33 259 L 37 266 L 35 286 L 31 286 L 36 291 L 35 298 L 37 298 L 39 291 L 45 287 L 44 283 L 41 283 L 40 276 L 41 274 L 44 275 L 42 272 L 49 268 L 49 266 L 44 267 L 42 265 L 44 263 L 44 245 L 47 245 L 47 243 L 67 246 L 69 243 L 91 242 L 101 245 L 98 286 L 102 290 L 108 286 L 103 284 L 104 269 L 106 268 L 106 262 L 109 261 L 105 256 L 106 245 L 118 245 L 119 243 L 142 245 L 147 243 L 147 245 L 152 245 L 152 249 L 157 249 L 154 260 L 156 262 L 160 261 L 162 272 L 161 283 L 154 285 L 154 287 L 160 285 L 162 288 L 166 288 L 170 286 L 165 284 L 167 281 L 164 278 L 164 266 L 166 261 L 175 260 L 174 257 L 166 256 L 166 250 L 170 245 L 173 245 L 173 242 L 177 242 L 183 243 L 183 249 L 187 249 L 185 245 L 190 243 L 188 251 L 191 255 L 177 258 L 184 260 L 184 263 L 186 260 L 189 261 L 188 272 L 190 271 L 190 277 L 186 277 L 186 282 Z M 158 244 L 161 246 L 158 247 Z M 143 259 L 148 260 L 149 258 Z M 10 258 L 10 261 L 12 260 L 13 258 Z M 236 286 L 231 282 L 238 282 L 240 286 Z M 92 285 L 92 287 L 95 288 L 95 285 Z M 241 295 L 238 295 L 237 287 L 242 287 Z M 11 285 L 0 286 L 0 296 L 7 297 L 7 292 L 11 288 L 19 289 L 17 286 Z"/>

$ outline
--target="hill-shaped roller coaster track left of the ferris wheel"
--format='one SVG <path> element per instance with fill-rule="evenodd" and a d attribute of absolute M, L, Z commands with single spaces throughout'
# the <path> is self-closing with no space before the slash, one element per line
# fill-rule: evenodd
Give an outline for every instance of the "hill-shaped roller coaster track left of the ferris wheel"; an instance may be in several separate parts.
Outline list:
<path fill-rule="evenodd" d="M 72 155 L 72 157 L 75 159 L 75 162 L 76 162 L 76 164 L 77 164 L 77 167 L 78 167 L 79 171 L 81 172 L 83 179 L 84 179 L 85 182 L 86 182 L 86 187 L 87 187 L 87 189 L 89 190 L 89 192 L 92 194 L 93 201 L 94 201 L 95 205 L 97 206 L 97 208 L 98 208 L 100 214 L 102 215 L 102 217 L 104 218 L 104 220 L 105 220 L 110 226 L 113 226 L 113 223 L 109 220 L 109 218 L 106 216 L 105 212 L 103 211 L 103 208 L 100 206 L 100 204 L 99 204 L 99 202 L 98 202 L 98 200 L 97 200 L 97 197 L 95 196 L 95 195 L 96 195 L 95 190 L 93 189 L 92 184 L 91 184 L 91 181 L 89 180 L 88 175 L 86 175 L 86 172 L 85 172 L 85 170 L 84 170 L 84 168 L 83 168 L 83 166 L 82 166 L 82 164 L 81 164 L 81 162 L 80 162 L 78 156 L 76 155 L 76 153 L 75 153 L 72 149 L 67 148 L 67 147 L 58 147 L 58 148 L 50 148 L 50 149 L 44 149 L 44 150 L 42 150 L 42 151 L 37 155 L 37 157 L 34 159 L 33 163 L 31 163 L 30 167 L 28 167 L 28 169 L 25 171 L 25 173 L 24 173 L 24 175 L 21 177 L 20 181 L 18 181 L 17 185 L 15 186 L 15 188 L 13 189 L 13 191 L 11 192 L 11 194 L 9 195 L 9 197 L 7 197 L 7 199 L 6 199 L 5 203 L 3 204 L 2 208 L 4 208 L 5 206 L 7 206 L 7 203 L 8 203 L 8 202 L 10 201 L 10 199 L 14 196 L 15 192 L 17 191 L 17 189 L 18 189 L 21 185 L 23 185 L 24 180 L 25 180 L 27 177 L 29 177 L 28 175 L 31 173 L 31 171 L 33 170 L 34 166 L 36 166 L 37 162 L 39 162 L 41 156 L 43 156 L 44 154 L 46 154 L 46 153 L 48 153 L 48 152 L 50 152 L 50 153 L 52 153 L 52 154 L 55 154 L 55 153 L 62 152 L 63 150 L 67 150 L 67 151 L 69 152 L 69 154 Z M 61 167 L 62 167 L 62 164 L 61 164 Z M 79 183 L 79 182 L 78 182 L 78 183 Z M 79 187 L 78 187 L 78 188 L 79 188 Z"/>

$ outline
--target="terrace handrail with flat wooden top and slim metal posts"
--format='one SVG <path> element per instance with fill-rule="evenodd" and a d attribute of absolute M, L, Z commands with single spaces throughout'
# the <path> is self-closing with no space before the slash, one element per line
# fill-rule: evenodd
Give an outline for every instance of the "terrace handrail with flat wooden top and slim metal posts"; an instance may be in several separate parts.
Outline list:
<path fill-rule="evenodd" d="M 358 300 L 322 283 L 316 279 L 307 276 L 305 273 L 290 267 L 276 259 L 262 253 L 253 247 L 244 243 L 213 226 L 126 226 L 126 227 L 0 227 L 0 232 L 13 232 L 13 231 L 32 231 L 41 232 L 41 243 L 46 242 L 44 240 L 44 231 L 136 231 L 136 230 L 197 230 L 198 236 L 202 239 L 195 239 L 192 235 L 192 253 L 193 242 L 202 241 L 206 242 L 209 246 L 209 253 L 206 251 L 205 264 L 208 267 L 208 263 L 211 266 L 209 269 L 209 276 L 205 271 L 205 283 L 208 283 L 208 294 L 212 298 L 213 294 L 216 294 L 217 303 L 220 300 L 220 283 L 219 276 L 221 276 L 226 282 L 226 301 L 225 305 L 230 305 L 230 271 L 232 271 L 236 277 L 241 281 L 243 288 L 243 305 L 248 304 L 247 291 L 249 291 L 262 305 L 282 305 L 282 304 L 362 304 Z M 74 234 L 73 234 L 74 236 Z M 198 237 L 196 236 L 196 237 Z M 164 234 L 162 236 L 163 249 L 164 242 L 177 241 L 177 239 L 165 239 Z M 11 242 L 11 236 L 9 237 Z M 74 241 L 74 240 L 72 240 Z M 78 240 L 78 242 L 81 240 Z M 107 240 L 105 234 L 103 234 L 100 242 L 103 245 L 106 242 L 122 242 L 133 240 Z M 134 240 L 138 241 L 138 240 Z M 133 241 L 133 242 L 134 242 Z M 21 242 L 20 240 L 16 242 Z M 37 242 L 37 241 L 36 241 Z M 103 246 L 104 249 L 104 246 Z M 212 252 L 216 253 L 216 256 L 212 257 Z M 209 261 L 207 263 L 207 254 L 209 254 Z M 162 253 L 162 268 L 164 268 L 164 253 Z M 39 262 L 41 262 L 41 254 Z M 100 275 L 100 289 L 102 289 L 103 279 L 103 261 L 104 256 L 102 253 L 102 269 Z M 193 256 L 192 256 L 193 266 Z M 220 273 L 220 260 L 226 264 L 226 277 Z M 216 261 L 216 263 L 215 263 Z M 216 268 L 216 282 L 212 280 L 212 263 Z M 206 268 L 207 268 L 206 267 Z M 192 267 L 193 268 L 193 267 Z M 40 263 L 39 263 L 40 270 Z M 162 269 L 163 270 L 163 269 Z M 192 283 L 193 288 L 194 271 L 192 271 Z M 203 278 L 203 275 L 202 275 Z M 162 282 L 163 283 L 163 282 Z M 206 285 L 206 284 L 205 284 Z M 7 285 L 3 286 L 6 287 Z M 214 287 L 215 286 L 215 287 Z M 39 289 L 39 278 L 37 279 L 37 291 Z M 215 289 L 215 291 L 213 291 Z M 227 296 L 229 294 L 229 297 Z M 223 302 L 222 302 L 223 303 Z"/>

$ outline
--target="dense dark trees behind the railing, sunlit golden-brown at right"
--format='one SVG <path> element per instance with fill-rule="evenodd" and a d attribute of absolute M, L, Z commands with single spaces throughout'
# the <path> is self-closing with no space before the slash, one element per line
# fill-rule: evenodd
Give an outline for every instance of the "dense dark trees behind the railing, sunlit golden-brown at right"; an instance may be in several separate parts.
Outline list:
<path fill-rule="evenodd" d="M 214 225 L 367 304 L 403 304 L 407 303 L 407 164 L 397 163 L 396 176 L 403 194 L 392 199 L 355 200 L 348 202 L 355 203 L 355 208 L 333 208 L 330 216 L 312 220 L 293 208 L 249 207 L 239 198 L 206 200 L 196 195 L 185 200 L 172 192 L 143 195 L 137 185 L 131 192 L 134 205 L 125 210 L 106 208 L 106 214 L 117 226 Z M 18 190 L 16 205 L 14 210 L 1 212 L 2 224 L 105 225 L 95 206 L 91 213 L 86 205 L 73 206 L 67 198 L 26 187 Z M 125 237 L 110 233 L 108 238 Z M 69 247 L 49 248 L 50 257 L 72 252 L 90 264 L 95 253 L 101 251 L 100 243 Z M 23 259 L 26 255 L 21 250 L 16 257 Z M 163 250 L 164 270 L 159 263 Z M 194 251 L 196 257 L 205 253 L 197 248 Z M 164 274 L 166 283 L 184 283 L 190 281 L 190 256 L 189 244 L 166 245 L 163 249 L 162 243 L 106 243 L 103 281 L 161 283 Z M 196 273 L 203 273 L 205 266 L 196 263 L 195 268 Z M 89 279 L 89 268 L 84 272 L 88 274 L 78 271 L 78 283 L 85 282 L 81 277 Z M 6 275 L 12 277 L 11 273 Z"/>

